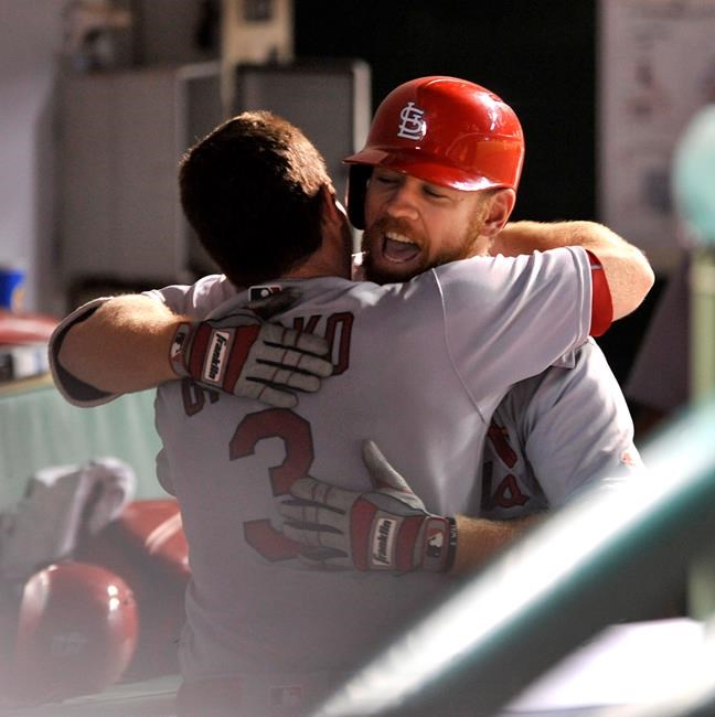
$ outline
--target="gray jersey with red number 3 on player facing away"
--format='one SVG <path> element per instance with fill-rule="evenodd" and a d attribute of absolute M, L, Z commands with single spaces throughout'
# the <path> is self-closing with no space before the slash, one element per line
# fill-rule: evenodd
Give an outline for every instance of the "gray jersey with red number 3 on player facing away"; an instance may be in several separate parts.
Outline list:
<path fill-rule="evenodd" d="M 456 261 L 404 285 L 271 283 L 302 291 L 280 322 L 332 346 L 319 394 L 285 409 L 190 379 L 157 392 L 158 473 L 180 500 L 191 550 L 188 681 L 351 670 L 444 597 L 444 575 L 306 568 L 280 534 L 276 500 L 305 474 L 367 490 L 360 448 L 374 438 L 428 510 L 478 513 L 492 413 L 591 323 L 589 259 L 576 247 Z M 195 319 L 247 301 L 218 276 L 153 296 Z"/>

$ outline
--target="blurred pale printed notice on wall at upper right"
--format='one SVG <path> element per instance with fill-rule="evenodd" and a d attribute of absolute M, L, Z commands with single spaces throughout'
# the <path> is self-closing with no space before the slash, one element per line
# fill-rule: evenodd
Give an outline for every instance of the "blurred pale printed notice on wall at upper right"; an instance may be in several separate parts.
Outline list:
<path fill-rule="evenodd" d="M 673 147 L 715 103 L 715 0 L 600 0 L 599 13 L 600 220 L 668 271 Z"/>

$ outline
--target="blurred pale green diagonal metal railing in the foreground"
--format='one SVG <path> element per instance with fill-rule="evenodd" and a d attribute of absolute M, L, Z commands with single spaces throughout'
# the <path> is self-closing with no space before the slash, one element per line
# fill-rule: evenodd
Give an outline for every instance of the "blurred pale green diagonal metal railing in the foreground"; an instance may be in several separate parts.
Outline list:
<path fill-rule="evenodd" d="M 447 704 L 494 715 L 600 629 L 659 599 L 703 546 L 715 549 L 715 400 L 642 452 L 642 479 L 606 482 L 555 513 L 311 717 L 445 715 Z M 707 694 L 701 685 L 701 703 Z M 677 714 L 691 713 L 669 717 Z"/>

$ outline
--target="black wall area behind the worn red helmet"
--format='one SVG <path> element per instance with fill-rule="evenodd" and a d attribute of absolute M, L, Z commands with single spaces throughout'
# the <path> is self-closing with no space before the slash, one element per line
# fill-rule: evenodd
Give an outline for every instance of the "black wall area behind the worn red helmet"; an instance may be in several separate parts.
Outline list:
<path fill-rule="evenodd" d="M 455 75 L 516 111 L 526 161 L 514 218 L 595 216 L 595 0 L 299 0 L 299 57 L 360 57 L 373 109 L 398 84 Z"/>

